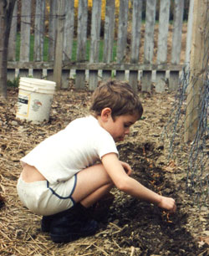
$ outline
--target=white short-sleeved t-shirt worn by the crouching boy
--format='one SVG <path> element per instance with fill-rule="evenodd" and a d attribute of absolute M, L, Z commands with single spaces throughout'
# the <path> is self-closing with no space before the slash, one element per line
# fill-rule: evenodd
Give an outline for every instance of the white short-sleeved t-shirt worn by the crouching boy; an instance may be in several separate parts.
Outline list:
<path fill-rule="evenodd" d="M 69 180 L 112 152 L 118 155 L 113 137 L 89 115 L 73 120 L 64 130 L 38 144 L 21 163 L 35 166 L 53 184 Z"/>

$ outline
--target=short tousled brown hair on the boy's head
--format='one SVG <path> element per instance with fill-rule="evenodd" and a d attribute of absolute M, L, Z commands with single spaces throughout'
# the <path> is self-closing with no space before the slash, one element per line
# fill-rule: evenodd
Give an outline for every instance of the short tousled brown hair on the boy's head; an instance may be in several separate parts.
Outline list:
<path fill-rule="evenodd" d="M 104 108 L 109 107 L 112 110 L 112 118 L 119 115 L 139 115 L 139 119 L 143 113 L 143 107 L 140 99 L 130 84 L 110 80 L 101 83 L 94 90 L 90 106 L 90 112 L 94 116 L 101 114 Z"/>

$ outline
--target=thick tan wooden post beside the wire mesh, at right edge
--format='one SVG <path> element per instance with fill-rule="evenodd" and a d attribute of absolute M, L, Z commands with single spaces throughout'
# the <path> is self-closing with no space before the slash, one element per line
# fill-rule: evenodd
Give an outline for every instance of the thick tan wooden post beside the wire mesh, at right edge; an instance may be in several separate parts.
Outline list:
<path fill-rule="evenodd" d="M 207 18 L 208 0 L 194 0 L 193 29 L 191 41 L 190 82 L 186 99 L 185 141 L 193 141 L 200 120 L 201 90 L 206 79 L 209 24 Z M 204 50 L 205 49 L 205 50 Z"/>

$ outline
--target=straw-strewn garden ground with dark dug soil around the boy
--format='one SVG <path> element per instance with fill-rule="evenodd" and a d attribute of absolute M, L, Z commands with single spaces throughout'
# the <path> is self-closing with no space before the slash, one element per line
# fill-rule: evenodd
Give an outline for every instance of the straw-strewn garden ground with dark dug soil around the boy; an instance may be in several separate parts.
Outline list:
<path fill-rule="evenodd" d="M 208 209 L 198 208 L 186 193 L 186 168 L 168 161 L 161 132 L 166 125 L 174 95 L 139 93 L 145 108 L 143 119 L 118 145 L 120 159 L 130 163 L 133 177 L 155 192 L 176 198 L 177 212 L 140 202 L 114 189 L 115 201 L 99 232 L 66 244 L 53 243 L 40 230 L 41 217 L 23 207 L 16 183 L 19 159 L 44 138 L 60 131 L 71 120 L 88 113 L 90 93 L 59 90 L 49 122 L 34 125 L 16 119 L 18 90 L 0 101 L 0 255 L 209 255 Z M 182 151 L 186 156 L 186 151 Z M 183 161 L 182 161 L 183 162 Z"/>

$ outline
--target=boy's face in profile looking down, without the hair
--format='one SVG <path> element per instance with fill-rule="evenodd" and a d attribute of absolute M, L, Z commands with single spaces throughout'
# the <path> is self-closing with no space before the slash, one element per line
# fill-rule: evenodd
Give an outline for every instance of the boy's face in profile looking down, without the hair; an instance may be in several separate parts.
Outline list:
<path fill-rule="evenodd" d="M 115 142 L 124 141 L 125 135 L 130 133 L 130 126 L 138 119 L 138 115 L 120 115 L 113 120 L 110 115 L 107 122 L 104 123 L 104 129 L 110 132 Z"/>

